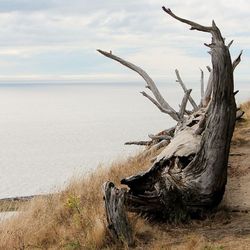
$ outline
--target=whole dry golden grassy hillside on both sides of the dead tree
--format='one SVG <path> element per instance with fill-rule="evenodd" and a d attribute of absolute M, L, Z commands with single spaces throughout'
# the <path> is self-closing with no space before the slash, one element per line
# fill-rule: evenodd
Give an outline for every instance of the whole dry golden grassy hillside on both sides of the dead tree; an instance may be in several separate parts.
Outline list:
<path fill-rule="evenodd" d="M 247 119 L 234 134 L 234 143 L 239 147 L 250 139 L 244 131 L 250 128 L 250 102 L 243 109 Z M 28 202 L 20 216 L 0 224 L 0 249 L 126 248 L 113 245 L 105 229 L 101 185 L 107 180 L 119 185 L 122 177 L 147 168 L 151 158 L 136 156 L 109 168 L 100 167 L 83 180 L 72 181 L 59 194 Z M 239 239 L 232 231 L 232 227 L 243 227 L 244 223 L 248 226 L 250 220 L 241 214 L 220 211 L 206 221 L 175 226 L 149 224 L 131 216 L 137 249 L 248 249 L 250 245 L 249 234 Z"/>

